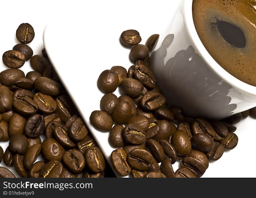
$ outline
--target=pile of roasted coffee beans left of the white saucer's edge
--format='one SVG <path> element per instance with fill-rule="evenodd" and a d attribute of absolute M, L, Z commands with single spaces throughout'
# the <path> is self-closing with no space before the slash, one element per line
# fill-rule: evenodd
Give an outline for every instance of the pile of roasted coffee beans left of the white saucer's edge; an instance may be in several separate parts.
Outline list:
<path fill-rule="evenodd" d="M 21 24 L 21 44 L 3 54 L 10 69 L 0 73 L 0 141 L 9 146 L 0 146 L 0 163 L 14 166 L 20 177 L 114 177 L 45 49 L 33 56 L 26 45 L 34 36 L 30 24 Z M 34 71 L 25 76 L 18 68 L 28 60 Z M 15 175 L 0 166 L 0 177 Z"/>

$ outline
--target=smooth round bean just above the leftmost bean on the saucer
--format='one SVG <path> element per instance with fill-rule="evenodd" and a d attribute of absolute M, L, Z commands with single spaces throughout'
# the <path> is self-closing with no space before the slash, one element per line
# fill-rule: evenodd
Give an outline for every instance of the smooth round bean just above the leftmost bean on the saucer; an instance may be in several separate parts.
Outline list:
<path fill-rule="evenodd" d="M 118 98 L 113 93 L 106 93 L 100 100 L 100 110 L 111 115 L 118 104 Z"/>

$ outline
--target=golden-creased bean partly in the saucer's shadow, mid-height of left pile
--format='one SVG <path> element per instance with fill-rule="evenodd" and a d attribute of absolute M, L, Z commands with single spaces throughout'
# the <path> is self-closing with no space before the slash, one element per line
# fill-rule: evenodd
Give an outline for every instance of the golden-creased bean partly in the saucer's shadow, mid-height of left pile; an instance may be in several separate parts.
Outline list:
<path fill-rule="evenodd" d="M 67 122 L 75 114 L 75 106 L 72 100 L 67 96 L 59 96 L 55 99 L 57 103 L 56 114 L 64 122 Z"/>

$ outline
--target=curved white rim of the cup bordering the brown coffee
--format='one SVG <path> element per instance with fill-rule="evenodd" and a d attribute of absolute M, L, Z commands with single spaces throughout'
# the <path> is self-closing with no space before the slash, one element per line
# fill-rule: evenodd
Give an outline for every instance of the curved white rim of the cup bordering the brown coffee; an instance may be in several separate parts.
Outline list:
<path fill-rule="evenodd" d="M 184 0 L 184 24 L 188 31 L 188 35 L 191 42 L 196 47 L 197 51 L 200 53 L 204 61 L 209 65 L 209 67 L 216 73 L 221 79 L 223 79 L 228 84 L 232 85 L 235 89 L 256 96 L 256 87 L 247 84 L 228 73 L 223 69 L 214 59 L 211 57 L 209 52 L 206 50 L 205 46 L 202 44 L 193 21 L 192 15 L 192 3 L 193 0 Z"/>

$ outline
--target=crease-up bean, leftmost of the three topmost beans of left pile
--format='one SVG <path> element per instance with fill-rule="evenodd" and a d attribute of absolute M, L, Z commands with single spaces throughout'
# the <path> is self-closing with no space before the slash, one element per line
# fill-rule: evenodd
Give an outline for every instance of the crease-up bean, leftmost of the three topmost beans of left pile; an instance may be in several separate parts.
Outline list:
<path fill-rule="evenodd" d="M 26 57 L 22 52 L 9 50 L 3 53 L 3 64 L 12 69 L 18 69 L 25 63 Z"/>

